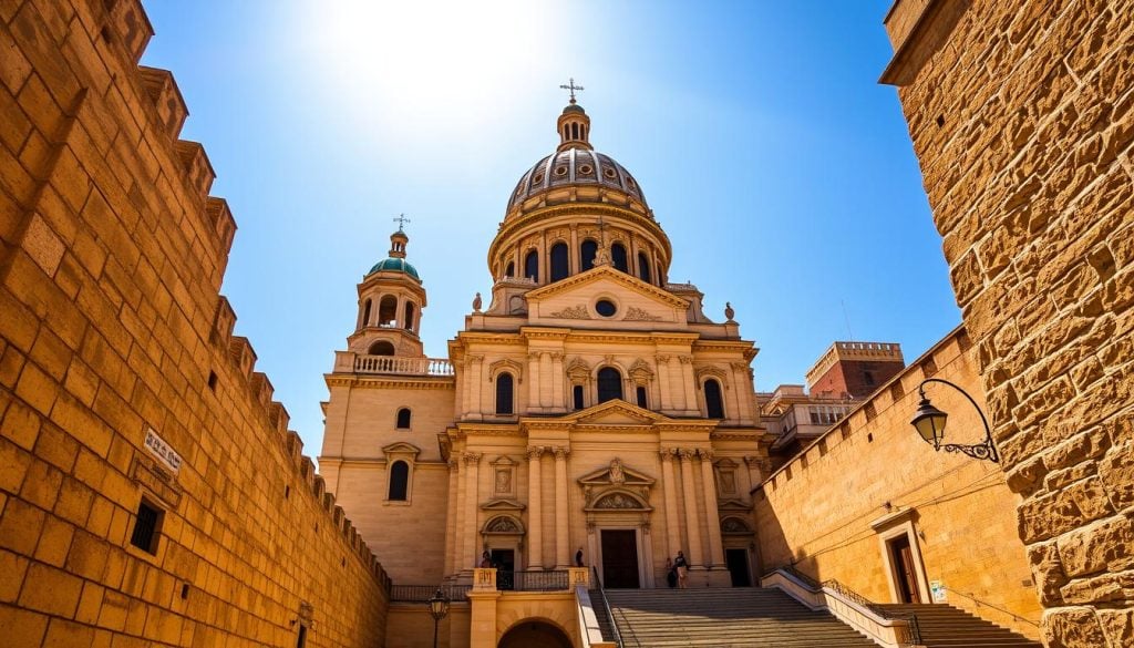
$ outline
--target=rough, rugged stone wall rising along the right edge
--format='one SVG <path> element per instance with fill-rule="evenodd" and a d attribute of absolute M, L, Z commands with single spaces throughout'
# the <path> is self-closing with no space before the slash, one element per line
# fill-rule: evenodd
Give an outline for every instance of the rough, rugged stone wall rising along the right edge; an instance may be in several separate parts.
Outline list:
<path fill-rule="evenodd" d="M 1044 640 L 1134 646 L 1134 3 L 922 5 L 888 17 L 882 81 L 1024 498 Z"/>

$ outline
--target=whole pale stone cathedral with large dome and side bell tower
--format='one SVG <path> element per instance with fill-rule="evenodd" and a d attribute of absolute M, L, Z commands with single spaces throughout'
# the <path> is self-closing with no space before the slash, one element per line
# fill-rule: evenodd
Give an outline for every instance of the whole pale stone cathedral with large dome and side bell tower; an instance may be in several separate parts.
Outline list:
<path fill-rule="evenodd" d="M 527 170 L 447 359 L 417 337 L 408 237 L 358 285 L 327 375 L 319 457 L 393 582 L 534 578 L 584 564 L 607 588 L 752 584 L 750 491 L 768 468 L 758 350 L 668 281 L 670 242 L 634 176 L 590 143 L 572 99 Z M 486 562 L 485 562 L 486 561 Z M 507 587 L 507 586 L 505 586 Z"/>

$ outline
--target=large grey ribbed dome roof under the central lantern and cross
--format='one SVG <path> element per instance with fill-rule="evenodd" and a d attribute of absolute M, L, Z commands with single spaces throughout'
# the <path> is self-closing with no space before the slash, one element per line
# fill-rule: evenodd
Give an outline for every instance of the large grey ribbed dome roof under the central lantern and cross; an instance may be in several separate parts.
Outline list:
<path fill-rule="evenodd" d="M 598 151 L 570 148 L 543 158 L 519 178 L 519 184 L 508 201 L 508 211 L 534 195 L 570 185 L 613 188 L 645 204 L 642 187 L 626 167 Z M 592 202 L 601 200 L 595 196 Z"/>

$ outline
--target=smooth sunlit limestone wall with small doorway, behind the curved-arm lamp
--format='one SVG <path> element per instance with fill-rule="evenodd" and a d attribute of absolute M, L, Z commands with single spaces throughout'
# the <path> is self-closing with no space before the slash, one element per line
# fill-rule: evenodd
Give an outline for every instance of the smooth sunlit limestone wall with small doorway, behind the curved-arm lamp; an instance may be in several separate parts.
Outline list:
<path fill-rule="evenodd" d="M 887 541 L 902 535 L 920 554 L 923 601 L 937 581 L 950 605 L 1036 636 L 1040 606 L 1013 520 L 1018 497 L 996 464 L 934 452 L 909 424 L 928 377 L 956 384 L 984 406 L 975 355 L 955 330 L 764 481 L 753 502 L 765 571 L 794 562 L 818 580 L 895 603 Z M 949 414 L 947 443 L 983 438 L 964 396 L 940 384 L 925 393 Z"/>

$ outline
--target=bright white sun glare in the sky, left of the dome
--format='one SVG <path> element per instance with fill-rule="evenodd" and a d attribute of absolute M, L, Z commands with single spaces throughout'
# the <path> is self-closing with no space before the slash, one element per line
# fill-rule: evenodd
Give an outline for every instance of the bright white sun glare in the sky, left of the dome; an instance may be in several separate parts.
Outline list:
<path fill-rule="evenodd" d="M 313 62 L 332 90 L 393 134 L 415 125 L 435 136 L 468 129 L 486 111 L 454 111 L 454 102 L 515 107 L 556 56 L 545 51 L 547 12 L 519 2 L 348 0 L 303 14 Z"/>

